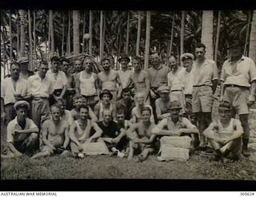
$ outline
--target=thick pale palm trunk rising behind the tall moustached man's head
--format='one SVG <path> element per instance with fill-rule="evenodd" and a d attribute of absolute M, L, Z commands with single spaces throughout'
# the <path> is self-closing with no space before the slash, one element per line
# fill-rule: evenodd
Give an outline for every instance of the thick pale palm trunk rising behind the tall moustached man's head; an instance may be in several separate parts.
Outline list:
<path fill-rule="evenodd" d="M 202 43 L 206 45 L 206 58 L 213 59 L 214 11 L 202 11 Z"/>

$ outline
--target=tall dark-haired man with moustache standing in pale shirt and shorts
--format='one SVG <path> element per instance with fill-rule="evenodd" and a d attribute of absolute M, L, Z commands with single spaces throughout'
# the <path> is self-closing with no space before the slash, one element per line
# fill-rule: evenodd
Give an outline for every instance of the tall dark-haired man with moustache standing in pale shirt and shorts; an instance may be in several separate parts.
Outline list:
<path fill-rule="evenodd" d="M 192 91 L 192 112 L 198 120 L 200 135 L 199 147 L 206 150 L 207 140 L 202 132 L 212 122 L 211 111 L 214 102 L 214 93 L 218 85 L 218 68 L 216 62 L 206 59 L 206 46 L 199 43 L 195 47 L 196 61 L 193 72 L 194 86 Z"/>

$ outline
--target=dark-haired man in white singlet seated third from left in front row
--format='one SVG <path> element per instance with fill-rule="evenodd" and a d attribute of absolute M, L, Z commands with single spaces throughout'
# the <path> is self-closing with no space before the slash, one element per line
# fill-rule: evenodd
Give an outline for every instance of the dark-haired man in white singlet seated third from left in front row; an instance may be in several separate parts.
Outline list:
<path fill-rule="evenodd" d="M 79 119 L 74 120 L 70 127 L 70 148 L 74 157 L 83 158 L 83 144 L 99 140 L 99 137 L 102 136 L 102 129 L 94 120 L 89 120 L 88 116 L 89 108 L 83 104 L 79 108 Z M 94 128 L 95 133 L 91 136 L 92 128 Z"/>

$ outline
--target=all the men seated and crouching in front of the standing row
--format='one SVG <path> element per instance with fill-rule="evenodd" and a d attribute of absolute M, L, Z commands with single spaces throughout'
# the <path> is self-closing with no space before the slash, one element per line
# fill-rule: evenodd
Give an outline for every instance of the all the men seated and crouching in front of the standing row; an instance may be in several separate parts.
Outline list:
<path fill-rule="evenodd" d="M 130 92 L 123 91 L 123 99 L 125 94 Z M 98 142 L 106 144 L 110 155 L 131 159 L 135 151 L 138 153 L 137 160 L 143 161 L 150 154 L 158 152 L 158 138 L 161 136 L 190 136 L 194 140 L 198 139 L 198 128 L 182 117 L 178 100 L 170 101 L 166 109 L 169 115 L 154 124 L 152 108 L 145 104 L 142 93 L 134 97 L 136 106 L 131 109 L 130 120 L 125 118 L 125 108 L 121 105 L 114 107 L 115 104 L 110 102 L 112 97 L 110 91 L 103 90 L 100 94 L 102 102 L 96 104 L 95 109 L 98 108 L 98 111 L 95 110 L 95 113 L 86 105 L 84 97 L 75 98 L 75 108 L 71 112 L 65 109 L 65 101 L 59 99 L 58 103 L 51 105 L 50 119 L 42 123 L 40 132 L 33 120 L 27 117 L 30 104 L 25 100 L 16 102 L 14 109 L 17 116 L 7 125 L 8 147 L 2 158 L 22 156 L 25 152 L 32 156 L 38 149 L 38 141 L 40 151 L 36 151 L 31 158 L 52 154 L 82 158 L 86 154 L 84 145 Z M 227 102 L 220 104 L 219 114 L 220 120 L 210 124 L 203 134 L 217 153 L 217 160 L 226 157 L 237 160 L 242 149 L 241 122 L 231 118 L 231 105 Z"/>

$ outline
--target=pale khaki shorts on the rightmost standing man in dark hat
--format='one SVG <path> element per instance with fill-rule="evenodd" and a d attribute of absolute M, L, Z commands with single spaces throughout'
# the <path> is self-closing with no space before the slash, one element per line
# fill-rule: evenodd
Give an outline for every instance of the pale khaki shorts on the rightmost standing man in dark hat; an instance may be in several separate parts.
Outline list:
<path fill-rule="evenodd" d="M 249 94 L 250 90 L 246 87 L 226 87 L 223 100 L 230 102 L 238 115 L 249 114 Z"/>

